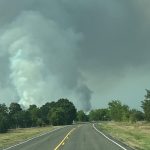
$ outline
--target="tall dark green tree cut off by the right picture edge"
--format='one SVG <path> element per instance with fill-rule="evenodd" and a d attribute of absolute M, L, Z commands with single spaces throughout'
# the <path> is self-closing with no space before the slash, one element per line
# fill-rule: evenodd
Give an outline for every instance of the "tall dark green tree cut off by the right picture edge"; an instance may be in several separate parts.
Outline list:
<path fill-rule="evenodd" d="M 146 90 L 147 94 L 145 99 L 142 101 L 142 108 L 145 115 L 145 120 L 150 121 L 150 90 Z"/>

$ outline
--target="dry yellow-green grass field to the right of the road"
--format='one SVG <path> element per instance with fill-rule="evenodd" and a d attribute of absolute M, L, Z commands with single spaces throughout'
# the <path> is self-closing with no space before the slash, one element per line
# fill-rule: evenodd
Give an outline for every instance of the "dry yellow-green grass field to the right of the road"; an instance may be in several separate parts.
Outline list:
<path fill-rule="evenodd" d="M 150 150 L 150 123 L 108 122 L 99 124 L 102 131 L 137 150 Z"/>

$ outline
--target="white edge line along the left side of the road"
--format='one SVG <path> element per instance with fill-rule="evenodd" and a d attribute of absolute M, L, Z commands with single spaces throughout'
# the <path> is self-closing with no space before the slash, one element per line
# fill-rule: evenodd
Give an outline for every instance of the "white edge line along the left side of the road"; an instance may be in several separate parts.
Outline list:
<path fill-rule="evenodd" d="M 3 150 L 9 150 L 9 149 L 11 149 L 11 148 L 14 148 L 14 147 L 16 147 L 16 146 L 22 145 L 22 144 L 24 144 L 24 143 L 27 143 L 27 142 L 29 142 L 29 141 L 32 141 L 32 140 L 36 139 L 36 138 L 39 138 L 39 137 L 44 136 L 44 135 L 47 135 L 47 134 L 49 134 L 49 133 L 52 133 L 52 132 L 54 132 L 54 131 L 57 131 L 57 130 L 62 129 L 62 128 L 65 128 L 65 127 L 67 127 L 67 126 L 54 129 L 54 130 L 52 130 L 52 131 L 50 131 L 50 132 L 47 132 L 47 133 L 44 133 L 44 134 L 40 134 L 40 135 L 38 135 L 38 136 L 36 136 L 36 137 L 30 138 L 30 139 L 28 139 L 28 140 L 26 140 L 26 141 L 24 141 L 24 142 L 21 142 L 21 143 L 19 143 L 19 144 L 13 145 L 13 146 L 10 146 L 10 147 L 5 148 L 5 149 L 3 149 Z"/>

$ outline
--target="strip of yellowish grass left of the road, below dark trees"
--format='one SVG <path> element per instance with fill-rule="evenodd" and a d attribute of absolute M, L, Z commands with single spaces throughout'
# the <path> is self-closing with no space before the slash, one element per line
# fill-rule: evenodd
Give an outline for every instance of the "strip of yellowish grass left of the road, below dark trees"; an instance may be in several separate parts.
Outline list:
<path fill-rule="evenodd" d="M 54 129 L 54 127 L 50 126 L 9 130 L 8 133 L 0 134 L 0 149 L 20 143 L 26 139 L 46 133 L 52 129 Z"/>

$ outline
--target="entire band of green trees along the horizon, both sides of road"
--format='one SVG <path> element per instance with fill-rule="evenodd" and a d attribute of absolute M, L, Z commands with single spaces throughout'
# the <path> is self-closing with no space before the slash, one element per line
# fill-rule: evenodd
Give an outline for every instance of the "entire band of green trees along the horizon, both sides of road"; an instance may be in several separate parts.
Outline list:
<path fill-rule="evenodd" d="M 141 101 L 143 111 L 130 109 L 119 100 L 112 100 L 107 108 L 91 110 L 88 114 L 83 110 L 77 112 L 68 99 L 47 102 L 41 107 L 30 105 L 28 109 L 23 109 L 18 103 L 11 103 L 9 107 L 0 104 L 0 132 L 13 128 L 69 125 L 73 121 L 150 121 L 150 90 L 146 91 L 145 99 Z"/>

